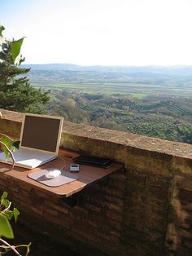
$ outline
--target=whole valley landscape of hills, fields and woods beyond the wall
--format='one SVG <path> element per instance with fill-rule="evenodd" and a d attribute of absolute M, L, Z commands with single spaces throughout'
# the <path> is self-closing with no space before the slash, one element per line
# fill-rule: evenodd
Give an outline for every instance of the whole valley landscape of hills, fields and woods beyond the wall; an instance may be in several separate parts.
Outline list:
<path fill-rule="evenodd" d="M 68 121 L 192 143 L 190 72 L 32 70 L 29 77 L 50 90 L 47 110 Z"/>

